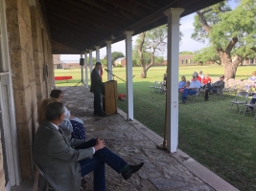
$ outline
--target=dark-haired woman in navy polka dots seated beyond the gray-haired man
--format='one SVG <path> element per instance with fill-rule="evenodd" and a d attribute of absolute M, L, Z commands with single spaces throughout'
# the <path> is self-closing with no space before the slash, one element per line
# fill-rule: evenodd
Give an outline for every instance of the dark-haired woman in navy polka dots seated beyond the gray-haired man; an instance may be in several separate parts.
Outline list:
<path fill-rule="evenodd" d="M 63 97 L 63 93 L 60 90 L 52 90 L 50 96 L 52 98 L 58 99 L 60 102 Z M 77 138 L 77 139 L 82 139 L 85 140 L 85 132 L 84 132 L 84 126 L 83 122 L 80 118 L 78 117 L 73 117 L 70 115 L 70 112 L 65 108 L 65 113 L 64 113 L 64 119 L 63 122 L 60 124 L 59 128 L 62 130 L 65 129 L 72 129 L 72 138 Z"/>

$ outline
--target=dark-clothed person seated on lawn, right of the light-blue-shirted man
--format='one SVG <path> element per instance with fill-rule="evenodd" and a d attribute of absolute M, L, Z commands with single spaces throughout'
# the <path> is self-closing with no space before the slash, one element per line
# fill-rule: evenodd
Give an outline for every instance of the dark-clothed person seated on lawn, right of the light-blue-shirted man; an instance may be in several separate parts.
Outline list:
<path fill-rule="evenodd" d="M 207 87 L 207 89 L 206 89 L 205 95 L 204 95 L 204 100 L 205 101 L 208 101 L 209 92 L 221 94 L 223 88 L 225 87 L 224 75 L 221 75 L 220 80 L 218 80 L 214 84 L 207 83 L 206 87 Z"/>

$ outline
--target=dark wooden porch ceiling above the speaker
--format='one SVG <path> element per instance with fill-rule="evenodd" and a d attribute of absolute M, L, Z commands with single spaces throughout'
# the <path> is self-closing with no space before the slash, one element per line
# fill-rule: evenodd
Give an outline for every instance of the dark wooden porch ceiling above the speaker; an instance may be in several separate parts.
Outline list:
<path fill-rule="evenodd" d="M 169 8 L 183 8 L 181 17 L 222 0 L 39 0 L 51 33 L 55 54 L 79 54 L 105 47 L 167 23 Z"/>

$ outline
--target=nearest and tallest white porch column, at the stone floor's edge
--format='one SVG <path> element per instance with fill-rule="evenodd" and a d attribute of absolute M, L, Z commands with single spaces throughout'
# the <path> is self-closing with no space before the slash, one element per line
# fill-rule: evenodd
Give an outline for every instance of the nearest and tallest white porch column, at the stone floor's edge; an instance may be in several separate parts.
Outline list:
<path fill-rule="evenodd" d="M 164 11 L 168 17 L 167 46 L 167 149 L 175 153 L 178 145 L 178 53 L 179 18 L 184 9 L 171 8 Z"/>

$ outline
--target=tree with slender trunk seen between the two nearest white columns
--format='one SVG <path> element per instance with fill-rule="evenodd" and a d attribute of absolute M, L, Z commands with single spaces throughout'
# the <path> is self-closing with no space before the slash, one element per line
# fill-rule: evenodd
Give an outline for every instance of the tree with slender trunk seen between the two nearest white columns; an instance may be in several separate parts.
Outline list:
<path fill-rule="evenodd" d="M 156 55 L 158 53 L 164 53 L 166 50 L 166 39 L 166 26 L 160 26 L 138 35 L 132 57 L 142 67 L 142 78 L 147 77 L 147 71 L 154 65 Z M 157 59 L 161 59 L 161 57 L 158 56 Z"/>

